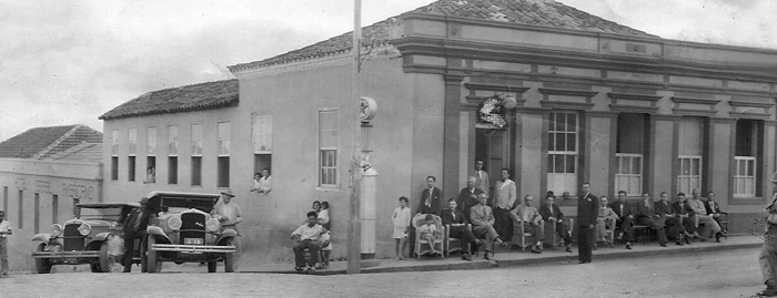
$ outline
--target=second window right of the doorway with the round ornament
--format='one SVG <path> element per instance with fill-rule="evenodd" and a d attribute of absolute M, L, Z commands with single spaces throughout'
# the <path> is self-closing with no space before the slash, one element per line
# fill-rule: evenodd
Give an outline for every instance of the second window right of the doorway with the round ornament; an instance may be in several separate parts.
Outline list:
<path fill-rule="evenodd" d="M 620 113 L 617 121 L 614 193 L 625 191 L 629 196 L 639 196 L 643 193 L 645 115 Z"/>

